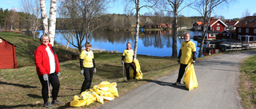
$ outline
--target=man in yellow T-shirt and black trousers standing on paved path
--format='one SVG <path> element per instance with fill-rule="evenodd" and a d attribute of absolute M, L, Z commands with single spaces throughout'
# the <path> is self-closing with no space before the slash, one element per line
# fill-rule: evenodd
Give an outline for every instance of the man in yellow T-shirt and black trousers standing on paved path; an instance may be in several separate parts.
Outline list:
<path fill-rule="evenodd" d="M 194 64 L 196 59 L 196 47 L 194 42 L 190 41 L 190 33 L 184 33 L 184 40 L 185 41 L 182 42 L 181 49 L 178 53 L 178 63 L 180 63 L 180 68 L 178 72 L 178 79 L 174 85 L 181 84 L 186 66 L 190 63 Z"/>

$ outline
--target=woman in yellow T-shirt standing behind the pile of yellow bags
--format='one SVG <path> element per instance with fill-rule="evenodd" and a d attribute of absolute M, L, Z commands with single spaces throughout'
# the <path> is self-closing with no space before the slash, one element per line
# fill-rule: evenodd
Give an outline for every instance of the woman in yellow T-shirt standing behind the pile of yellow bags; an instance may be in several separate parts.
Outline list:
<path fill-rule="evenodd" d="M 90 42 L 86 42 L 86 49 L 80 54 L 80 73 L 85 76 L 80 93 L 86 91 L 86 89 L 90 89 L 91 81 L 93 80 L 94 73 L 96 73 L 94 53 L 90 48 Z"/>

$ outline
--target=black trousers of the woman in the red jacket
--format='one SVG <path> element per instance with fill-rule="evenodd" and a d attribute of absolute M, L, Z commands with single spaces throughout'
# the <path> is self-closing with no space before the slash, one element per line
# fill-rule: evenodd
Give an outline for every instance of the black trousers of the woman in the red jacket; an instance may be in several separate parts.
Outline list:
<path fill-rule="evenodd" d="M 42 99 L 43 99 L 43 102 L 47 103 L 47 99 L 48 99 L 47 81 L 43 80 L 43 76 L 38 76 L 38 77 L 39 77 L 39 80 L 42 84 Z M 53 97 L 53 100 L 57 100 L 58 90 L 59 90 L 59 86 L 60 86 L 57 73 L 54 72 L 54 73 L 50 74 L 48 76 L 48 80 L 49 80 L 49 84 L 51 84 L 51 86 L 53 87 L 53 90 L 51 91 L 51 95 Z"/>

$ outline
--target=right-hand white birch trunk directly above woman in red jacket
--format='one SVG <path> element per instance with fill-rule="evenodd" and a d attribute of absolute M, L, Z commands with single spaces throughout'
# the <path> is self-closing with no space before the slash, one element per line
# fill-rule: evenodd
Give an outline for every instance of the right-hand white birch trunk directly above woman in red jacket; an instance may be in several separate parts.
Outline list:
<path fill-rule="evenodd" d="M 51 45 L 54 45 L 54 37 L 55 37 L 55 29 L 56 29 L 57 1 L 58 0 L 50 0 L 49 36 L 50 36 L 50 44 Z"/>

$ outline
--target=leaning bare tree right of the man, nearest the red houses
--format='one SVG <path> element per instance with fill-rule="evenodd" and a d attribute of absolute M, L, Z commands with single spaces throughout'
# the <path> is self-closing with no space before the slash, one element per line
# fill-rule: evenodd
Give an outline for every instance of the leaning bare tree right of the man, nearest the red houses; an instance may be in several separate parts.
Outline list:
<path fill-rule="evenodd" d="M 203 22 L 204 22 L 203 30 L 202 30 L 202 41 L 201 41 L 198 57 L 202 56 L 205 36 L 206 36 L 206 33 L 208 32 L 212 11 L 214 10 L 214 8 L 216 6 L 219 6 L 223 2 L 228 3 L 230 1 L 232 1 L 232 0 L 200 0 L 195 4 L 195 7 L 197 7 L 197 8 L 194 8 L 194 9 L 197 10 L 202 15 Z M 193 7 L 191 7 L 191 8 L 193 8 Z"/>

